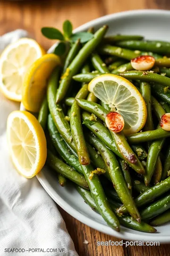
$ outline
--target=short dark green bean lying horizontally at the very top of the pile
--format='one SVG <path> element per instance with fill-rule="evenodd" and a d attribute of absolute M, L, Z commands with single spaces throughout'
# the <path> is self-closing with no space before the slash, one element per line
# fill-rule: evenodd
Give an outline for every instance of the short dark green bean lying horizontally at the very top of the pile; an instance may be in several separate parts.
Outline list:
<path fill-rule="evenodd" d="M 108 36 L 104 37 L 102 41 L 104 43 L 117 43 L 120 41 L 125 41 L 125 40 L 142 40 L 144 37 L 142 36 L 136 36 L 136 35 L 115 35 L 115 36 Z"/>

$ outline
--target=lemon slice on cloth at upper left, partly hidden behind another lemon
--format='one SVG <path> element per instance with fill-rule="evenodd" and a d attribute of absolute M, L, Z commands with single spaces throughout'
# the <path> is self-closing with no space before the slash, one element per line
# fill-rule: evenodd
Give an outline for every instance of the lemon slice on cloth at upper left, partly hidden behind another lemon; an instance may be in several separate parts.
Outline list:
<path fill-rule="evenodd" d="M 0 56 L 0 90 L 10 100 L 21 101 L 26 71 L 45 51 L 30 38 L 21 38 Z"/>

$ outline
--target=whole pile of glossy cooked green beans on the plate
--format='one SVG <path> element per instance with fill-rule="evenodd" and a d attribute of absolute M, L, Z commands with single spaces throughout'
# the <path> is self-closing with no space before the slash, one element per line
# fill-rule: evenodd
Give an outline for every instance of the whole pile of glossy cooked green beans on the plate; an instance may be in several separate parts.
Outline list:
<path fill-rule="evenodd" d="M 38 116 L 47 139 L 46 164 L 61 186 L 74 183 L 112 229 L 119 231 L 121 224 L 152 233 L 153 226 L 170 221 L 170 131 L 160 126 L 170 112 L 170 43 L 138 35 L 104 37 L 106 31 L 101 27 L 85 44 L 78 39 L 49 78 Z M 140 55 L 155 58 L 151 71 L 134 70 L 130 61 Z M 88 91 L 88 83 L 103 73 L 132 81 L 141 93 L 147 110 L 143 130 L 124 135 L 107 128 L 109 105 Z"/>

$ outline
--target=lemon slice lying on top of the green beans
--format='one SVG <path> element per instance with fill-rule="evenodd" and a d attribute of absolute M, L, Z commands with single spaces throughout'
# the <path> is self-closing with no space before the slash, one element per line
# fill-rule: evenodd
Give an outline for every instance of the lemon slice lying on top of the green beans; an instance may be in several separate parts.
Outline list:
<path fill-rule="evenodd" d="M 127 79 L 114 74 L 103 74 L 89 83 L 88 90 L 108 104 L 111 111 L 116 111 L 123 117 L 125 134 L 138 132 L 144 127 L 147 117 L 144 99 Z"/>

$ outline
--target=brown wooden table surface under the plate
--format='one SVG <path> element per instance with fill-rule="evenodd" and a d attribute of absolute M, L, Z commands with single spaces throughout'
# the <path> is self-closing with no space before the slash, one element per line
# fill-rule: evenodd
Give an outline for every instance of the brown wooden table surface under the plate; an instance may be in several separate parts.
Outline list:
<path fill-rule="evenodd" d="M 42 37 L 43 26 L 62 27 L 70 19 L 74 27 L 106 14 L 133 9 L 170 9 L 170 0 L 34 0 L 0 2 L 0 35 L 24 28 L 48 49 L 52 40 Z M 97 246 L 96 241 L 119 241 L 102 234 L 71 217 L 59 208 L 80 256 L 165 256 L 170 255 L 170 245 L 159 247 Z M 84 244 L 85 239 L 89 242 Z"/>

